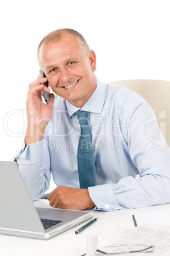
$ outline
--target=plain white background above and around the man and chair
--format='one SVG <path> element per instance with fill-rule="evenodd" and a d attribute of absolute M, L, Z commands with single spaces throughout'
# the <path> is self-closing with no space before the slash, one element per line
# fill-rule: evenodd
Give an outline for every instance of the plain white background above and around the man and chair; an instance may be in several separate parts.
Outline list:
<path fill-rule="evenodd" d="M 37 46 L 69 27 L 96 52 L 102 82 L 170 80 L 169 0 L 9 0 L 0 4 L 0 160 L 11 160 L 25 132 L 29 84 L 39 75 Z"/>

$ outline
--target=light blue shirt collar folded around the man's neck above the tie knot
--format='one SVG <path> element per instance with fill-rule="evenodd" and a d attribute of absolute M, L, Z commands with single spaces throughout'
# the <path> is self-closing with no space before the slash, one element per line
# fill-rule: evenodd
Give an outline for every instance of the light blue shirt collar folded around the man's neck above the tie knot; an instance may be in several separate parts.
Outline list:
<path fill-rule="evenodd" d="M 100 114 L 103 110 L 103 105 L 105 102 L 105 90 L 105 84 L 101 83 L 97 78 L 97 86 L 95 92 L 93 92 L 91 97 L 89 97 L 88 101 L 86 101 L 84 106 L 82 106 L 81 110 Z M 75 107 L 69 103 L 69 101 L 65 100 L 65 103 L 69 117 L 71 117 L 76 111 L 80 110 L 80 108 Z"/>

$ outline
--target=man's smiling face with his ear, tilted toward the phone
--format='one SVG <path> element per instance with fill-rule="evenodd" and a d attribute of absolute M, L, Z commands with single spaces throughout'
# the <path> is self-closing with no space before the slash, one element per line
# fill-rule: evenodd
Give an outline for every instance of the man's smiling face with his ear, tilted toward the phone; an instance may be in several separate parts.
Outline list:
<path fill-rule="evenodd" d="M 87 56 L 70 34 L 57 43 L 42 45 L 39 51 L 41 69 L 53 92 L 79 108 L 96 89 L 95 60 L 95 52 Z"/>

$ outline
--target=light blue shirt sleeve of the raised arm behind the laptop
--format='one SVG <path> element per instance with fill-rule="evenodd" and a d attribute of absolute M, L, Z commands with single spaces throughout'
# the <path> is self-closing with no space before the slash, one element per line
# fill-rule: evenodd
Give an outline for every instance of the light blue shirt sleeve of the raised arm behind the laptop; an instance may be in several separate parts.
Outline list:
<path fill-rule="evenodd" d="M 19 165 L 25 185 L 32 200 L 37 200 L 49 188 L 51 171 L 47 138 L 22 148 L 14 159 Z"/>

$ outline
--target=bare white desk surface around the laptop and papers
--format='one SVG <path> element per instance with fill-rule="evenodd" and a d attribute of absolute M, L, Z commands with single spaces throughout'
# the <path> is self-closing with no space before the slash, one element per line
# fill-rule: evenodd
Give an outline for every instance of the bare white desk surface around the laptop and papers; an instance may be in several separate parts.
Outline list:
<path fill-rule="evenodd" d="M 49 207 L 48 200 L 39 200 L 34 204 L 37 207 Z M 164 209 L 170 209 L 170 204 L 112 212 L 93 211 L 94 217 L 99 219 L 80 234 L 76 235 L 75 230 L 86 222 L 47 241 L 0 235 L 0 254 L 2 256 L 80 256 L 86 253 L 88 234 L 110 231 L 119 226 L 134 227 L 132 218 L 134 213 Z"/>

